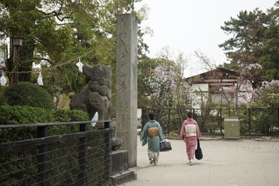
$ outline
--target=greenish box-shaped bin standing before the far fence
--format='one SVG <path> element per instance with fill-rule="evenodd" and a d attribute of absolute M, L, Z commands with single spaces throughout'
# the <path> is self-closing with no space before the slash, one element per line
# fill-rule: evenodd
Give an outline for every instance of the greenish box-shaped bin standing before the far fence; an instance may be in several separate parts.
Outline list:
<path fill-rule="evenodd" d="M 225 139 L 240 139 L 239 117 L 224 118 Z"/>

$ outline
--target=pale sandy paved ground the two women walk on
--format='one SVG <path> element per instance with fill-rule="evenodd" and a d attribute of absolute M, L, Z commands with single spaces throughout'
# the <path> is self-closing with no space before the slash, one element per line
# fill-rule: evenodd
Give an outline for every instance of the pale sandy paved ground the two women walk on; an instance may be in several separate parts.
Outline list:
<path fill-rule="evenodd" d="M 158 166 L 149 165 L 146 148 L 137 142 L 137 180 L 126 186 L 279 185 L 279 142 L 241 140 L 201 141 L 202 160 L 190 166 L 185 144 L 170 140 L 173 150 L 160 153 Z"/>

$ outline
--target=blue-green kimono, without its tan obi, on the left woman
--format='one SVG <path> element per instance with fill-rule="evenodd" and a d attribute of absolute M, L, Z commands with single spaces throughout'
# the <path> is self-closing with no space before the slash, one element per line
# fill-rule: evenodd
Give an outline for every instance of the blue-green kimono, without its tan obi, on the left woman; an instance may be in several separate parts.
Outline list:
<path fill-rule="evenodd" d="M 158 127 L 159 135 L 155 137 L 150 137 L 148 134 L 148 129 L 150 127 Z M 142 139 L 142 146 L 148 143 L 147 154 L 149 156 L 149 159 L 153 158 L 154 161 L 157 163 L 160 153 L 160 141 L 162 139 L 165 139 L 160 123 L 158 123 L 156 120 L 151 120 L 148 123 L 146 123 L 144 125 L 144 128 L 142 129 L 142 133 L 140 134 L 140 139 Z"/>

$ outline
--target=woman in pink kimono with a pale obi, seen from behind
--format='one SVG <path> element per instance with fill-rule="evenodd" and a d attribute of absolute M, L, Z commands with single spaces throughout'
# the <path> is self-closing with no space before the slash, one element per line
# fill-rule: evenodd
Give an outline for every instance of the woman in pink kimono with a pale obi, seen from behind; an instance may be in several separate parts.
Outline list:
<path fill-rule="evenodd" d="M 179 136 L 186 143 L 186 153 L 188 155 L 189 164 L 193 165 L 197 139 L 202 135 L 199 130 L 199 125 L 197 125 L 197 121 L 193 120 L 193 112 L 189 111 L 187 115 L 188 119 L 183 121 Z"/>

